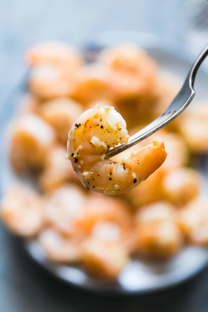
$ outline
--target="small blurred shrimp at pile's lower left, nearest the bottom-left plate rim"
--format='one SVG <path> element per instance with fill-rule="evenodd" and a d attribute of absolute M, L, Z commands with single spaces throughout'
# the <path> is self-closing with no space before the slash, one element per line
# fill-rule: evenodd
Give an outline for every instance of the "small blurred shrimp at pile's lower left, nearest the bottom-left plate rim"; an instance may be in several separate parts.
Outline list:
<path fill-rule="evenodd" d="M 80 261 L 82 237 L 67 238 L 51 228 L 38 236 L 38 241 L 51 261 L 74 263 Z"/>

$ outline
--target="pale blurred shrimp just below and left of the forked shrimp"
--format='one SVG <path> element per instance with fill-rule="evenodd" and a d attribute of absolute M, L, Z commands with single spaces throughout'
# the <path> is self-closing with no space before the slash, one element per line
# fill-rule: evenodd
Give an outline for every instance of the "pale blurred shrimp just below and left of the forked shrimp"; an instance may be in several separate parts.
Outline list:
<path fill-rule="evenodd" d="M 64 235 L 77 233 L 76 220 L 82 214 L 85 194 L 74 184 L 65 184 L 45 197 L 45 222 Z"/>

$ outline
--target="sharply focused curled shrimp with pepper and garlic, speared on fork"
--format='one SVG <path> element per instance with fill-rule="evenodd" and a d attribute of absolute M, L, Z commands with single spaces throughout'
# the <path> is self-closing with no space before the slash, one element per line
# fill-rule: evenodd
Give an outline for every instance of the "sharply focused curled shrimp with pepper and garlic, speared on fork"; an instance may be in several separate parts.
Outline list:
<path fill-rule="evenodd" d="M 67 148 L 75 173 L 87 189 L 108 195 L 128 192 L 162 165 L 167 155 L 162 138 L 120 163 L 104 159 L 110 148 L 128 139 L 126 122 L 113 107 L 98 104 L 80 116 L 70 130 Z"/>

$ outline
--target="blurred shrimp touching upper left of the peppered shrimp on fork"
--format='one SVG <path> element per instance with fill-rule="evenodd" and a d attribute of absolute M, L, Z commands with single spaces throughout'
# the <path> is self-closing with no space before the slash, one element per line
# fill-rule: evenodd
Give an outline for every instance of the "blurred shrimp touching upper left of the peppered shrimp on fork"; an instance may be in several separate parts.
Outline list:
<path fill-rule="evenodd" d="M 39 115 L 56 129 L 59 140 L 64 144 L 68 140 L 69 129 L 82 112 L 80 103 L 64 97 L 46 101 L 39 108 Z"/>

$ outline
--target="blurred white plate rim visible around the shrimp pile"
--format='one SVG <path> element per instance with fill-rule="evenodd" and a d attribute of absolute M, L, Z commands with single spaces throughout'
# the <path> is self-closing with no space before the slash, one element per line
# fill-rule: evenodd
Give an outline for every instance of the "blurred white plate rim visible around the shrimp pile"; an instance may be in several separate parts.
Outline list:
<path fill-rule="evenodd" d="M 85 55 L 88 59 L 92 60 L 100 47 L 121 41 L 132 41 L 145 47 L 148 53 L 158 61 L 162 70 L 170 72 L 181 81 L 184 80 L 191 66 L 191 63 L 186 57 L 179 57 L 175 52 L 170 52 L 171 49 L 169 46 L 167 49 L 167 47 L 159 45 L 155 37 L 136 32 L 108 32 L 100 34 L 96 38 L 92 38 L 88 41 L 88 46 L 85 46 L 84 49 Z M 14 115 L 17 100 L 21 96 L 25 84 L 26 79 L 14 90 L 7 105 L 4 106 L 0 116 L 1 123 L 4 125 L 8 119 Z M 196 98 L 191 105 L 194 105 L 196 99 L 199 100 L 200 98 L 208 97 L 207 84 L 208 73 L 200 69 L 196 77 Z M 5 146 L 6 145 L 4 145 L 4 147 Z M 10 164 L 7 161 L 6 149 L 4 148 L 3 150 L 4 152 L 0 155 L 2 166 L 0 173 L 1 186 L 10 184 L 14 179 L 17 180 L 17 177 L 12 172 Z M 205 176 L 207 182 L 207 158 L 196 158 L 196 167 Z M 202 192 L 205 191 L 205 189 L 207 189 L 207 184 Z M 30 256 L 57 278 L 86 290 L 111 294 L 139 294 L 177 285 L 190 279 L 208 263 L 208 250 L 206 248 L 189 246 L 183 249 L 174 258 L 163 262 L 147 262 L 141 259 L 133 259 L 119 274 L 118 280 L 113 283 L 95 279 L 85 273 L 79 266 L 63 266 L 48 261 L 43 249 L 35 240 L 23 241 L 23 244 Z"/>

